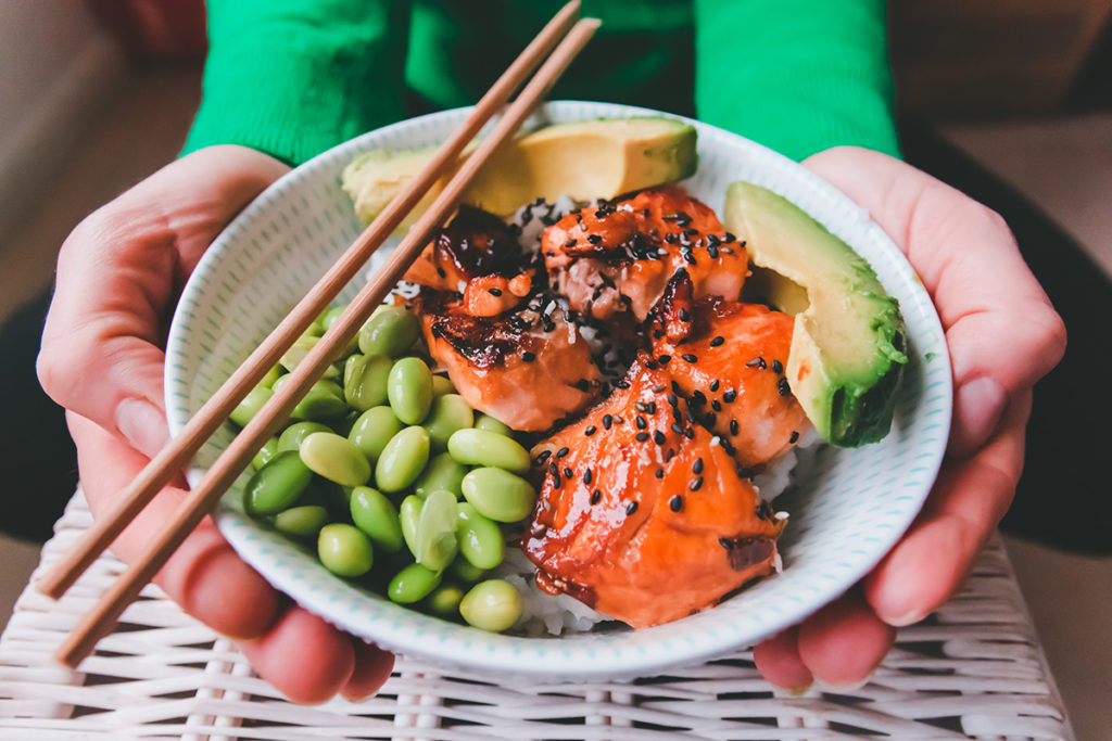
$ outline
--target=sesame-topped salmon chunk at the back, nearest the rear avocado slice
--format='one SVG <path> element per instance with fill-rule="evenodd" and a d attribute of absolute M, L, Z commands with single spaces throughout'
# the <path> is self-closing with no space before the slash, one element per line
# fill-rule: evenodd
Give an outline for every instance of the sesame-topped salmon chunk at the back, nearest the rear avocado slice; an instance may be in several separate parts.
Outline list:
<path fill-rule="evenodd" d="M 644 320 L 681 268 L 696 298 L 733 300 L 748 270 L 744 243 L 675 187 L 569 213 L 545 230 L 540 247 L 553 289 L 594 319 L 628 310 Z"/>

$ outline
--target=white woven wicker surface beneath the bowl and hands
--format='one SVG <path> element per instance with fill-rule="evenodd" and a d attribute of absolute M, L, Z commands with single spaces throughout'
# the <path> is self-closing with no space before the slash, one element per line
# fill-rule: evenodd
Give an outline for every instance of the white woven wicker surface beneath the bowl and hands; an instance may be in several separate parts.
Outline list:
<path fill-rule="evenodd" d="M 43 564 L 89 522 L 70 503 Z M 40 571 L 42 565 L 40 565 Z M 82 673 L 50 654 L 121 565 L 102 557 L 60 602 L 24 591 L 0 639 L 2 739 L 1069 739 L 999 542 L 965 589 L 917 625 L 871 682 L 774 694 L 748 651 L 636 682 L 499 685 L 399 659 L 374 699 L 282 701 L 227 640 L 148 587 Z"/>

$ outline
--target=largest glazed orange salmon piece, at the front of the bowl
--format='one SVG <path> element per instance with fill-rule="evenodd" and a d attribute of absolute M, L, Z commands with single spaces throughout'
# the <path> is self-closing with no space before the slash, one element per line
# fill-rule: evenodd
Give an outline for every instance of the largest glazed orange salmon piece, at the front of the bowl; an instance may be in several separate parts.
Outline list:
<path fill-rule="evenodd" d="M 783 530 L 669 382 L 642 353 L 609 398 L 533 451 L 544 480 L 522 548 L 537 584 L 634 628 L 772 573 Z"/>

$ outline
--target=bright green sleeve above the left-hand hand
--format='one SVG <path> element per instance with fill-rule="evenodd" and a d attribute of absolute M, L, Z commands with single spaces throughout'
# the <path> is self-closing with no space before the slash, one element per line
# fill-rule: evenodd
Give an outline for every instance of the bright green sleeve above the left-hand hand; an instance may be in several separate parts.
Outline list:
<path fill-rule="evenodd" d="M 242 144 L 297 164 L 405 118 L 406 0 L 208 0 L 183 153 Z"/>

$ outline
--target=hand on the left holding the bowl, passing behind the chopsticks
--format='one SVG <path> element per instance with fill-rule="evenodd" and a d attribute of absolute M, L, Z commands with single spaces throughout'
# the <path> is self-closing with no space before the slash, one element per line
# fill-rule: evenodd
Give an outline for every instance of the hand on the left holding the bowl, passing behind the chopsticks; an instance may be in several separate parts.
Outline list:
<path fill-rule="evenodd" d="M 139 183 L 62 244 L 39 354 L 42 388 L 66 407 L 81 484 L 96 515 L 168 438 L 166 324 L 189 273 L 225 224 L 285 164 L 214 147 Z M 168 487 L 112 544 L 137 558 L 186 495 Z M 367 697 L 394 658 L 291 604 L 244 563 L 208 519 L 155 579 L 189 614 L 240 642 L 256 670 L 298 702 Z"/>

